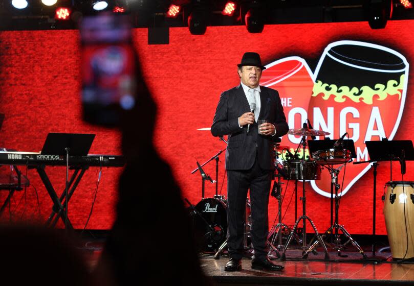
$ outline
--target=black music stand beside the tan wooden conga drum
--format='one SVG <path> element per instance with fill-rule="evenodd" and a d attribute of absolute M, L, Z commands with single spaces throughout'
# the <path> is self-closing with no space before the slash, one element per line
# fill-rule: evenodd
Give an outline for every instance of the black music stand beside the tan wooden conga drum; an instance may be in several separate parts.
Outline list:
<path fill-rule="evenodd" d="M 381 141 L 366 141 L 369 163 L 374 167 L 374 199 L 373 199 L 373 256 L 375 256 L 375 230 L 376 230 L 376 197 L 377 197 L 377 166 L 380 161 L 390 161 L 390 181 L 393 180 L 393 161 L 400 160 L 402 151 L 405 152 L 405 160 L 414 160 L 414 147 L 411 140 L 392 140 L 383 139 Z M 364 163 L 364 162 L 359 162 Z M 401 163 L 401 161 L 400 161 Z"/>

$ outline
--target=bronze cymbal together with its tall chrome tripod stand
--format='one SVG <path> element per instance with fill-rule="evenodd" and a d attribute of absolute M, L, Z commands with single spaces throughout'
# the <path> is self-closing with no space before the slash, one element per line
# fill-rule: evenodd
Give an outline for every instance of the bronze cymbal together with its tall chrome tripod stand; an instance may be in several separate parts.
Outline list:
<path fill-rule="evenodd" d="M 314 130 L 314 129 L 308 129 L 307 128 L 307 124 L 303 124 L 303 128 L 300 129 L 290 129 L 288 134 L 293 134 L 293 135 L 302 135 L 302 140 L 301 140 L 301 144 L 302 144 L 302 160 L 301 160 L 301 171 L 302 171 L 302 211 L 303 211 L 303 215 L 301 217 L 299 217 L 291 231 L 291 233 L 289 234 L 288 240 L 286 242 L 285 247 L 283 248 L 282 254 L 280 259 L 281 260 L 286 260 L 286 250 L 288 249 L 288 246 L 290 244 L 290 242 L 292 241 L 292 237 L 295 233 L 295 230 L 297 229 L 297 226 L 299 224 L 300 221 L 302 221 L 303 223 L 303 231 L 302 231 L 302 250 L 303 250 L 303 257 L 307 258 L 308 256 L 308 252 L 305 252 L 306 249 L 308 249 L 308 245 L 307 245 L 307 241 L 306 241 L 306 220 L 308 220 L 313 228 L 313 230 L 315 231 L 315 235 L 318 239 L 318 242 L 322 245 L 323 250 L 325 252 L 325 259 L 329 259 L 329 254 L 328 254 L 328 249 L 326 249 L 325 244 L 322 241 L 322 237 L 319 235 L 318 231 L 316 230 L 316 227 L 313 223 L 313 221 L 306 215 L 306 190 L 305 190 L 305 181 L 306 181 L 306 162 L 305 162 L 305 149 L 307 146 L 306 143 L 306 136 L 317 136 L 317 135 L 327 135 L 326 133 L 328 132 L 323 132 L 323 131 L 319 131 L 319 130 Z M 329 134 L 329 133 L 328 133 Z M 300 145 L 300 144 L 299 144 Z"/>

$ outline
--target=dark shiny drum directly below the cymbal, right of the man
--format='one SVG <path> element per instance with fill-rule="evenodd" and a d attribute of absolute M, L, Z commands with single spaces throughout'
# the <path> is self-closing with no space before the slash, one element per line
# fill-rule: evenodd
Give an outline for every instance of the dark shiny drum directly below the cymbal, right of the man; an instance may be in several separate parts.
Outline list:
<path fill-rule="evenodd" d="M 304 173 L 302 171 L 302 161 L 292 160 L 285 161 L 283 170 L 286 173 L 286 180 L 320 180 L 320 166 L 314 161 L 304 161 Z"/>

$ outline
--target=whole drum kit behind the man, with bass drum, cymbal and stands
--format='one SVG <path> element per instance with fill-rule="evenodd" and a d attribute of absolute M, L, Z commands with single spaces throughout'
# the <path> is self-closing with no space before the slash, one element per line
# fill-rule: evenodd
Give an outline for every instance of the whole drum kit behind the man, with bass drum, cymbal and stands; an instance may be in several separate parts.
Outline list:
<path fill-rule="evenodd" d="M 318 150 L 312 153 L 312 159 L 306 159 L 306 151 L 307 151 L 307 136 L 326 136 L 330 135 L 329 132 L 325 132 L 322 130 L 316 130 L 308 128 L 306 124 L 303 125 L 303 128 L 299 129 L 290 129 L 288 134 L 302 136 L 299 146 L 297 147 L 294 154 L 289 151 L 288 146 L 280 146 L 280 144 L 275 144 L 275 181 L 274 181 L 274 189 L 275 189 L 275 197 L 278 200 L 278 224 L 272 227 L 269 231 L 268 236 L 268 245 L 270 247 L 270 252 L 275 252 L 277 257 L 280 259 L 286 259 L 286 250 L 289 244 L 292 242 L 292 239 L 295 239 L 298 244 L 301 244 L 302 249 L 302 257 L 307 258 L 310 252 L 315 252 L 315 248 L 318 244 L 323 248 L 325 253 L 325 259 L 329 258 L 328 249 L 323 241 L 324 237 L 328 235 L 334 235 L 334 245 L 332 246 L 333 249 L 338 250 L 338 254 L 340 254 L 340 250 L 342 247 L 347 245 L 348 243 L 352 243 L 359 252 L 366 258 L 365 254 L 363 253 L 362 249 L 359 245 L 352 239 L 351 235 L 345 230 L 342 225 L 338 223 L 338 208 L 339 208 L 339 198 L 340 195 L 338 194 L 338 189 L 340 185 L 338 184 L 338 174 L 342 167 L 334 168 L 337 164 L 346 164 L 352 161 L 351 151 L 347 149 L 343 149 L 343 146 L 340 144 L 335 146 L 335 148 L 329 148 L 324 150 Z M 343 139 L 343 138 L 342 138 Z M 338 140 L 339 141 L 339 140 Z M 337 141 L 337 142 L 338 142 Z M 277 160 L 278 155 L 280 155 L 284 150 L 287 152 L 285 154 L 289 157 L 289 159 L 283 161 L 283 164 Z M 222 151 L 221 151 L 222 152 Z M 216 158 L 219 154 L 216 154 L 214 158 Z M 298 154 L 302 154 L 299 156 Z M 300 158 L 299 158 L 300 157 Z M 211 159 L 210 159 L 211 160 Z M 205 164 L 205 163 L 204 163 Z M 203 164 L 203 165 L 204 165 Z M 200 170 L 203 178 L 203 194 L 202 200 L 195 206 L 191 205 L 191 211 L 194 214 L 193 220 L 195 225 L 195 230 L 203 234 L 203 244 L 202 244 L 202 252 L 205 254 L 213 254 L 214 258 L 219 258 L 220 254 L 223 252 L 223 249 L 227 245 L 226 241 L 226 234 L 227 234 L 227 213 L 226 213 L 226 199 L 224 196 L 216 195 L 214 198 L 204 198 L 204 180 L 210 179 L 207 174 L 202 170 L 202 166 L 198 163 L 198 169 L 194 170 L 193 172 Z M 332 223 L 332 226 L 322 235 L 320 235 L 312 222 L 312 220 L 306 214 L 306 192 L 305 192 L 305 182 L 307 180 L 319 180 L 321 176 L 322 169 L 327 169 L 332 178 L 332 186 L 335 188 L 335 222 Z M 216 168 L 217 172 L 217 168 Z M 295 180 L 297 185 L 298 181 L 302 182 L 302 216 L 297 218 L 295 225 L 292 230 L 289 227 L 282 223 L 282 214 L 281 214 L 281 203 L 282 203 L 282 195 L 280 192 L 281 178 L 285 180 Z M 216 175 L 217 179 L 217 175 Z M 213 181 L 216 182 L 216 181 Z M 273 192 L 273 191 L 272 191 Z M 251 240 L 250 240 L 250 202 L 247 199 L 246 202 L 246 220 L 245 220 L 245 236 L 244 236 L 244 246 L 246 249 L 250 248 Z M 301 237 L 297 234 L 298 225 L 302 221 L 302 231 Z M 315 241 L 311 241 L 310 244 L 307 244 L 307 231 L 306 225 L 307 221 L 311 224 L 314 232 L 315 232 Z M 289 236 L 287 237 L 286 244 L 282 245 L 282 232 L 286 233 L 286 230 L 290 231 Z M 339 239 L 339 231 L 341 231 L 348 239 L 348 241 L 344 244 L 340 243 Z M 314 239 L 315 239 L 314 237 Z M 277 242 L 277 243 L 276 243 Z M 327 245 L 331 246 L 327 243 Z"/>

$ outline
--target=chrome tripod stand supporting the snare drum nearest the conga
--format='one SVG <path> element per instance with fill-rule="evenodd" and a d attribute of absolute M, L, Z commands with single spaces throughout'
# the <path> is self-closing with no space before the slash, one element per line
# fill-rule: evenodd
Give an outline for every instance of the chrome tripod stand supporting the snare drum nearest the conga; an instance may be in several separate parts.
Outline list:
<path fill-rule="evenodd" d="M 333 234 L 334 233 L 334 242 L 331 246 L 332 249 L 335 249 L 338 251 L 338 256 L 340 257 L 346 257 L 346 255 L 341 255 L 341 249 L 346 246 L 348 243 L 352 243 L 356 249 L 358 249 L 359 253 L 361 253 L 363 259 L 367 259 L 364 251 L 362 248 L 358 245 L 358 243 L 351 237 L 351 235 L 346 231 L 346 229 L 338 223 L 338 212 L 339 212 L 339 201 L 341 196 L 338 196 L 338 190 L 340 188 L 340 185 L 338 184 L 338 174 L 341 170 L 341 167 L 338 169 L 333 168 L 333 166 L 328 165 L 329 173 L 331 174 L 331 184 L 335 187 L 335 222 L 333 225 L 331 225 L 328 230 L 325 231 L 324 234 L 322 234 L 322 237 L 325 237 L 326 235 Z M 341 244 L 341 240 L 339 237 L 339 230 L 347 237 L 347 241 L 344 244 Z M 308 254 L 309 252 L 313 251 L 318 244 L 318 241 L 315 241 L 311 247 L 305 252 L 305 254 Z M 330 244 L 328 244 L 330 245 Z"/>

